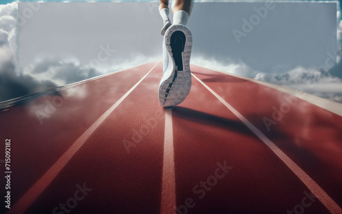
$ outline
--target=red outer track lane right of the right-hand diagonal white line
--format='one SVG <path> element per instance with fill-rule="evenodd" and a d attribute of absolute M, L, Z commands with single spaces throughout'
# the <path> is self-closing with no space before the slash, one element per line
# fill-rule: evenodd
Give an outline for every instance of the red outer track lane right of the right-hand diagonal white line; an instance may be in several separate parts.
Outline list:
<path fill-rule="evenodd" d="M 341 116 L 264 85 L 192 68 L 196 77 L 271 139 L 341 207 Z"/>

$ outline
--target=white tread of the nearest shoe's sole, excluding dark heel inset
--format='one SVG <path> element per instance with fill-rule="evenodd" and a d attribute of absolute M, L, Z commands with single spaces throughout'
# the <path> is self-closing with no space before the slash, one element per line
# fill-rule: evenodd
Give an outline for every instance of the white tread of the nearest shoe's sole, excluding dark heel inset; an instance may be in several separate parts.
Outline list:
<path fill-rule="evenodd" d="M 182 54 L 183 70 L 177 70 L 172 54 L 171 36 L 176 31 L 185 35 L 185 45 Z M 182 103 L 190 92 L 192 75 L 190 72 L 190 55 L 192 51 L 192 34 L 184 25 L 172 25 L 164 36 L 168 55 L 172 58 L 173 71 L 159 85 L 159 103 L 163 107 L 171 107 Z M 170 62 L 169 62 L 170 63 Z M 170 65 L 169 65 L 170 66 Z"/>

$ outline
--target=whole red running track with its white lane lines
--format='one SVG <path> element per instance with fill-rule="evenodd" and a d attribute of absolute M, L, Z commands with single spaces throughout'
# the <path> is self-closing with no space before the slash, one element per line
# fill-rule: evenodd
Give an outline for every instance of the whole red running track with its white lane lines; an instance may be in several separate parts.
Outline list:
<path fill-rule="evenodd" d="M 161 70 L 150 62 L 3 109 L 1 213 L 342 213 L 341 116 L 198 66 L 187 99 L 163 109 Z"/>

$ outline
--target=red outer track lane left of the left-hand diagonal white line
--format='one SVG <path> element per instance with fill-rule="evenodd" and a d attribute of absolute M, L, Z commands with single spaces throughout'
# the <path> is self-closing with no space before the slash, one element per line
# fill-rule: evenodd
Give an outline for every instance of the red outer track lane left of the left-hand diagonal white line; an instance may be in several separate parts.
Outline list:
<path fill-rule="evenodd" d="M 41 96 L 26 105 L 1 111 L 1 138 L 10 138 L 12 141 L 14 174 L 11 181 L 15 187 L 11 193 L 12 206 L 77 137 L 113 105 L 112 102 L 118 101 L 155 64 L 156 62 L 144 64 L 105 78 L 84 82 L 58 93 Z M 129 81 L 122 81 L 126 79 Z M 110 84 L 111 88 L 106 88 L 103 83 Z M 101 100 L 93 102 L 90 97 L 101 97 Z M 36 116 L 37 112 L 48 115 L 42 118 L 42 124 Z M 7 126 L 6 122 L 16 125 Z"/>

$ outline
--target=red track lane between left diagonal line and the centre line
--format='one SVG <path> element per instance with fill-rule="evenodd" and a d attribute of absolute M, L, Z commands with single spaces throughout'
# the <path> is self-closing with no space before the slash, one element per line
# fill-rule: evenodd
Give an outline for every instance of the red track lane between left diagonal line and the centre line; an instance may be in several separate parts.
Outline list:
<path fill-rule="evenodd" d="M 58 204 L 66 203 L 75 186 L 83 183 L 92 191 L 78 202 L 73 213 L 160 212 L 165 118 L 157 99 L 160 78 L 159 63 L 26 213 L 51 213 L 56 206 L 56 211 L 61 211 Z M 135 146 L 124 146 L 124 142 L 134 140 Z"/>

